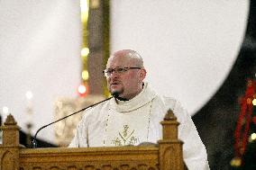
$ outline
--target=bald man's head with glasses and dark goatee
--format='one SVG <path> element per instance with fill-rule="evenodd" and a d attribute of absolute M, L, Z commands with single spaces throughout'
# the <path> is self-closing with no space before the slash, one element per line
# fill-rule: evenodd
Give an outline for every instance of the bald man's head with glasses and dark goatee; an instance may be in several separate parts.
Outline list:
<path fill-rule="evenodd" d="M 142 57 L 136 51 L 116 51 L 108 58 L 106 64 L 108 90 L 114 96 L 130 100 L 142 91 L 146 73 Z"/>

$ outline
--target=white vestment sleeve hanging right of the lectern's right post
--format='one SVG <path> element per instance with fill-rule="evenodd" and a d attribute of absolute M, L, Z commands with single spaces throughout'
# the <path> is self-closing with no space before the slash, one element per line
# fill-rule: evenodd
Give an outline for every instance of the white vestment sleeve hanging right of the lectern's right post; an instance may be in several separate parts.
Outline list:
<path fill-rule="evenodd" d="M 184 142 L 183 157 L 187 168 L 189 170 L 208 170 L 206 148 L 190 115 L 178 102 L 175 104 L 173 112 L 177 115 L 180 123 L 178 139 Z"/>

